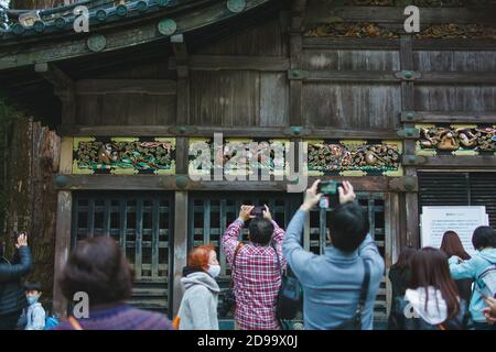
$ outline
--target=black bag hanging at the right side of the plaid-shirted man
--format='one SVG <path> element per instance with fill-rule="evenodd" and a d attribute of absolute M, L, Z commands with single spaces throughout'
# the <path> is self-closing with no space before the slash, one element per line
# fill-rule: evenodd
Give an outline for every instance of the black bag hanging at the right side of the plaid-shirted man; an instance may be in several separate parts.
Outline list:
<path fill-rule="evenodd" d="M 276 257 L 278 261 L 279 272 L 281 273 L 281 288 L 279 289 L 276 317 L 281 320 L 291 320 L 296 317 L 296 314 L 302 310 L 303 299 L 301 294 L 301 285 L 298 278 L 284 274 L 282 270 L 281 261 L 276 249 L 274 243 L 271 243 Z M 281 323 L 281 326 L 283 326 Z"/>

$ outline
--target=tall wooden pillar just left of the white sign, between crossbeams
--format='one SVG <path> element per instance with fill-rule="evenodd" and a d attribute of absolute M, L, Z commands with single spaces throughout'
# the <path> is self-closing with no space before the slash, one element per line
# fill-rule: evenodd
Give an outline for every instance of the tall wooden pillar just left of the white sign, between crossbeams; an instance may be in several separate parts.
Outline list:
<path fill-rule="evenodd" d="M 411 36 L 405 35 L 400 40 L 400 65 L 401 70 L 413 70 L 413 54 Z M 414 109 L 414 82 L 401 81 L 401 110 L 413 111 Z M 413 129 L 414 123 L 405 123 L 403 129 Z M 416 154 L 416 140 L 405 140 L 405 155 Z M 405 167 L 407 176 L 417 176 L 417 168 L 414 166 Z M 420 246 L 419 233 L 419 205 L 418 194 L 407 193 L 405 195 L 405 219 L 406 219 L 406 243 L 412 246 Z"/>

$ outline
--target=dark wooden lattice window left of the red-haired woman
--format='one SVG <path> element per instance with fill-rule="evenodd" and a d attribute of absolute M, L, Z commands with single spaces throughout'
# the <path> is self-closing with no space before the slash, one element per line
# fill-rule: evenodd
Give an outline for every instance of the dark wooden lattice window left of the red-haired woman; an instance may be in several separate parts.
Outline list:
<path fill-rule="evenodd" d="M 72 245 L 109 235 L 118 241 L 133 266 L 131 304 L 169 311 L 172 266 L 173 201 L 166 193 L 76 193 Z"/>

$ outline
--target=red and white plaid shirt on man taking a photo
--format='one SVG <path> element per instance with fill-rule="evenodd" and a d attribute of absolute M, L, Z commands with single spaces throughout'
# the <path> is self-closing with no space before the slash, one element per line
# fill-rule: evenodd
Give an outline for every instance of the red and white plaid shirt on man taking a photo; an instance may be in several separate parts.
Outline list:
<path fill-rule="evenodd" d="M 276 243 L 281 265 L 285 267 L 282 257 L 282 230 L 272 221 L 274 231 L 272 239 Z M 239 243 L 238 237 L 244 221 L 237 219 L 223 235 L 223 250 L 227 261 L 233 265 L 233 257 Z M 242 330 L 279 330 L 276 318 L 276 298 L 281 286 L 276 253 L 271 246 L 247 243 L 238 250 L 233 273 L 236 295 L 235 319 Z"/>

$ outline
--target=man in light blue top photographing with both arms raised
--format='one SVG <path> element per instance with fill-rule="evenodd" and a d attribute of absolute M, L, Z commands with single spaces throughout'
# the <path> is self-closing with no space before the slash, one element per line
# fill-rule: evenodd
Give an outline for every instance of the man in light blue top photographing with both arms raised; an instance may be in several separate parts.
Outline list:
<path fill-rule="evenodd" d="M 368 234 L 368 219 L 354 201 L 356 196 L 348 182 L 338 188 L 339 205 L 331 213 L 332 246 L 327 246 L 323 255 L 315 255 L 301 245 L 305 218 L 322 196 L 317 194 L 319 183 L 316 180 L 306 190 L 304 202 L 292 218 L 282 244 L 284 257 L 303 287 L 304 327 L 331 330 L 354 317 L 365 276 L 365 260 L 370 270 L 370 282 L 362 329 L 371 330 L 374 301 L 385 265 Z"/>

